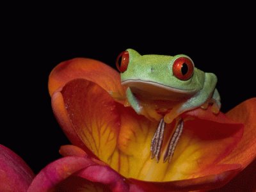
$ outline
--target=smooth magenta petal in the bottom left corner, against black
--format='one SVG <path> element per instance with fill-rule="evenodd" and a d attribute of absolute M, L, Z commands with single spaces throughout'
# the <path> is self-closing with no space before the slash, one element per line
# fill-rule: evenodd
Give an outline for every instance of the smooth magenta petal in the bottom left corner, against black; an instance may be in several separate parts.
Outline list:
<path fill-rule="evenodd" d="M 34 173 L 9 148 L 0 145 L 0 191 L 27 191 Z"/>

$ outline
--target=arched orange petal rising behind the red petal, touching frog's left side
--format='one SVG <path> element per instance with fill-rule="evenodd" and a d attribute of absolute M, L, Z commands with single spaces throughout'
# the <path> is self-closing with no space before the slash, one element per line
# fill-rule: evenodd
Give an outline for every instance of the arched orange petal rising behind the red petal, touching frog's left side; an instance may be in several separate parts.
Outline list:
<path fill-rule="evenodd" d="M 124 97 L 125 93 L 120 83 L 120 74 L 108 65 L 88 58 L 75 58 L 57 65 L 49 76 L 50 95 L 68 81 L 79 78 L 93 81 L 107 92 Z"/>

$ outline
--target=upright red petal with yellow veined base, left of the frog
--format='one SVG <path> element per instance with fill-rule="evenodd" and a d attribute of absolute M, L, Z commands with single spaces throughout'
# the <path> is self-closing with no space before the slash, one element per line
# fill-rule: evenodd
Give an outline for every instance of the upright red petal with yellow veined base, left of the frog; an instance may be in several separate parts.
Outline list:
<path fill-rule="evenodd" d="M 108 92 L 92 81 L 74 79 L 54 93 L 52 108 L 72 143 L 108 161 L 119 131 L 116 102 Z"/>

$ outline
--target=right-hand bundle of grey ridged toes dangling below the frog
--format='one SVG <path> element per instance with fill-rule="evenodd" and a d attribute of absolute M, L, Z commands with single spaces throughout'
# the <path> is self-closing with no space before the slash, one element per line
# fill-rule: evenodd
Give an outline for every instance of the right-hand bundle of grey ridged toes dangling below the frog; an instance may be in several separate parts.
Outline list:
<path fill-rule="evenodd" d="M 182 131 L 183 131 L 183 120 L 180 119 L 175 128 L 175 131 L 173 132 L 172 138 L 168 144 L 168 148 L 164 154 L 164 163 L 166 161 L 170 163 Z"/>

